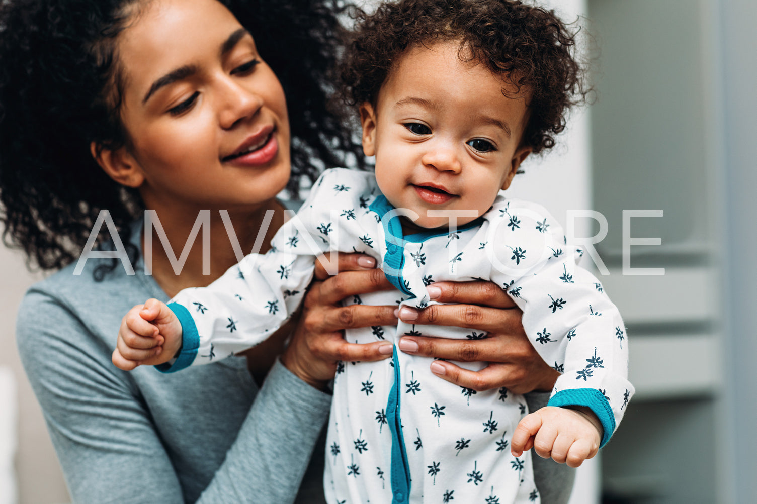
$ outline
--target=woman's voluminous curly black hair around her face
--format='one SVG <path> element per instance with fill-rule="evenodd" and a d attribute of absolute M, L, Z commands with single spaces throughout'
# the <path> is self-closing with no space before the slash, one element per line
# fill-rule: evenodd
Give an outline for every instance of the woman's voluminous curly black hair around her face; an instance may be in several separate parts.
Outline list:
<path fill-rule="evenodd" d="M 148 2 L 149 0 L 146 0 Z M 100 210 L 129 244 L 139 193 L 108 177 L 92 141 L 126 145 L 119 119 L 119 33 L 145 0 L 4 0 L 0 3 L 0 201 L 3 241 L 41 269 L 73 262 Z M 220 0 L 255 37 L 282 82 L 292 176 L 361 163 L 343 117 L 327 107 L 343 47 L 338 0 Z M 107 233 L 98 237 L 102 242 Z M 135 247 L 129 248 L 136 258 Z M 112 268 L 111 268 L 112 269 Z M 101 272 L 102 273 L 102 272 Z M 96 275 L 98 276 L 98 275 Z M 101 276 L 101 275 L 99 275 Z"/>

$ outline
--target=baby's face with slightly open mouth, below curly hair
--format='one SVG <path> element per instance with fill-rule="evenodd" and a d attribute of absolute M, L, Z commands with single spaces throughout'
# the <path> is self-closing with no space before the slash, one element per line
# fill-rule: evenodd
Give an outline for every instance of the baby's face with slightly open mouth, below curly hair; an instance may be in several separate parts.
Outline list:
<path fill-rule="evenodd" d="M 519 147 L 525 93 L 483 64 L 460 61 L 458 48 L 456 41 L 410 48 L 375 107 L 360 107 L 363 151 L 376 157 L 378 187 L 394 207 L 418 213 L 414 224 L 423 228 L 449 223 L 428 210 L 485 213 L 531 152 Z"/>

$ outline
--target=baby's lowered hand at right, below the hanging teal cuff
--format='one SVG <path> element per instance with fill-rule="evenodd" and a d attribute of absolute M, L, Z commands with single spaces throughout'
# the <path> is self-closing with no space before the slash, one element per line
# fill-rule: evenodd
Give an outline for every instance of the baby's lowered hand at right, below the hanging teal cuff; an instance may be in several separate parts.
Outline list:
<path fill-rule="evenodd" d="M 512 435 L 510 451 L 519 457 L 534 447 L 544 459 L 578 467 L 600 450 L 603 428 L 590 409 L 545 406 L 525 415 Z"/>

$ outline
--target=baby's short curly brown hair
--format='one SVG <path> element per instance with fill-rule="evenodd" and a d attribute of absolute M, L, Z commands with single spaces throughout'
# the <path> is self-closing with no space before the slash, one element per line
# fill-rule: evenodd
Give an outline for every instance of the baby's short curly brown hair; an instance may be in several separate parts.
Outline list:
<path fill-rule="evenodd" d="M 380 5 L 374 14 L 359 9 L 352 14 L 356 27 L 339 71 L 341 95 L 350 106 L 375 105 L 407 48 L 449 40 L 460 41 L 460 58 L 486 64 L 518 89 L 528 89 L 522 145 L 534 153 L 555 145 L 570 108 L 590 93 L 585 66 L 576 58 L 578 28 L 544 8 L 517 0 L 400 0 Z"/>

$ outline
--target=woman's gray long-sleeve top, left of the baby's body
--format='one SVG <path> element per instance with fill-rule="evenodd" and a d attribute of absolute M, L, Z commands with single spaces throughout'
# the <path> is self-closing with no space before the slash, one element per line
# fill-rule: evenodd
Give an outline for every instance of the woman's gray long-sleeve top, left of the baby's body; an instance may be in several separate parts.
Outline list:
<path fill-rule="evenodd" d="M 331 397 L 278 361 L 260 390 L 244 357 L 174 376 L 152 366 L 120 371 L 111 352 L 121 317 L 167 295 L 141 264 L 136 275 L 119 265 L 95 282 L 98 263 L 34 285 L 17 321 L 23 366 L 73 501 L 292 502 Z M 201 400 L 182 399 L 198 391 Z"/>

